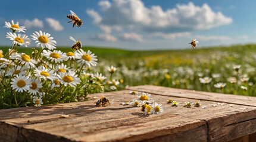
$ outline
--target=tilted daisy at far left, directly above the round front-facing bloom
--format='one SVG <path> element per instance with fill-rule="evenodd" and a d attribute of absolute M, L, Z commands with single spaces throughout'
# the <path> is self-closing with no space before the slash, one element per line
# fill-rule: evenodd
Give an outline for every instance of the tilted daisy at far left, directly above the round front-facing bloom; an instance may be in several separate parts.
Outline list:
<path fill-rule="evenodd" d="M 16 59 L 18 60 L 18 63 L 25 64 L 25 67 L 35 67 L 35 64 L 38 64 L 34 59 L 31 59 L 29 55 L 25 53 L 13 53 L 10 56 L 10 59 Z"/>

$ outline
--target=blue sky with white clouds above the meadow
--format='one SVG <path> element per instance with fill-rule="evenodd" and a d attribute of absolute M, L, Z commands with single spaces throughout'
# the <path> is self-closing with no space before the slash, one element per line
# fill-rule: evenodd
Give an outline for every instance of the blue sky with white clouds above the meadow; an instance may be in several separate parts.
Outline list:
<path fill-rule="evenodd" d="M 50 33 L 57 46 L 72 46 L 71 35 L 84 46 L 129 50 L 189 49 L 255 43 L 256 1 L 2 1 L 0 26 L 14 20 L 34 31 Z M 84 22 L 72 28 L 66 15 L 74 11 Z M 54 24 L 55 23 L 55 24 Z M 57 23 L 57 24 L 56 24 Z M 9 46 L 7 28 L 0 44 Z M 33 43 L 29 47 L 35 46 Z"/>

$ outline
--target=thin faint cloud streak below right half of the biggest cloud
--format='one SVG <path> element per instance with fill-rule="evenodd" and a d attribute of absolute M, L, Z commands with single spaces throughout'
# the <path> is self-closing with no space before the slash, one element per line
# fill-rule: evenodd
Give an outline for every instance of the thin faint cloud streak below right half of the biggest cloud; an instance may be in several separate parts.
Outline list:
<path fill-rule="evenodd" d="M 162 37 L 164 39 L 174 40 L 178 37 L 191 37 L 191 33 L 189 32 L 173 33 L 173 34 L 153 33 L 153 34 L 150 34 L 149 37 Z"/>

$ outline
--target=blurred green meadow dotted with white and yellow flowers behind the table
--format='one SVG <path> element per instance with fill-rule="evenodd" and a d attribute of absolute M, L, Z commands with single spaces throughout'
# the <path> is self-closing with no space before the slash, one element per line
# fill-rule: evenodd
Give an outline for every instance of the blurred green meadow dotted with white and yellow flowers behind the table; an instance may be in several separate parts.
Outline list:
<path fill-rule="evenodd" d="M 106 66 L 117 67 L 113 76 L 121 82 L 117 89 L 148 84 L 255 96 L 255 47 L 248 44 L 195 50 L 189 47 L 186 50 L 154 51 L 99 47 L 83 47 L 83 50 L 90 50 L 98 56 L 98 66 L 92 73 L 108 75 Z M 1 49 L 5 52 L 8 48 Z M 71 51 L 70 47 L 57 49 L 66 53 Z M 32 49 L 20 48 L 19 52 L 29 54 Z"/>

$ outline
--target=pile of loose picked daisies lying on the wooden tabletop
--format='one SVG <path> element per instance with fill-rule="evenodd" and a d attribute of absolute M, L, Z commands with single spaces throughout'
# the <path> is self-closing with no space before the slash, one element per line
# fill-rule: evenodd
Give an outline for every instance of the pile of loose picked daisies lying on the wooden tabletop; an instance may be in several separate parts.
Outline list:
<path fill-rule="evenodd" d="M 145 115 L 160 114 L 164 111 L 163 105 L 155 102 L 155 100 L 151 98 L 151 95 L 149 93 L 139 93 L 136 91 L 130 91 L 129 93 L 132 95 L 136 95 L 136 98 L 130 102 L 121 102 L 121 105 L 132 105 L 135 107 L 141 107 L 141 111 L 145 112 Z"/>

